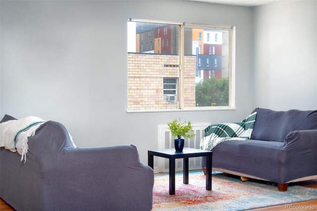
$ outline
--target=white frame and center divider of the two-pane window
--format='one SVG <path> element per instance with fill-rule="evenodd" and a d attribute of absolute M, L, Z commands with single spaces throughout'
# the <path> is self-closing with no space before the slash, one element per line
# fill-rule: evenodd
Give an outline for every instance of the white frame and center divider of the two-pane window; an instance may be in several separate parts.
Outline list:
<path fill-rule="evenodd" d="M 148 19 L 132 19 L 129 21 L 134 22 L 146 22 L 146 23 L 162 23 L 162 24 L 171 24 L 180 26 L 180 36 L 179 36 L 179 78 L 177 83 L 179 84 L 179 90 L 177 98 L 180 101 L 179 109 L 163 109 L 163 110 L 127 110 L 127 112 L 170 112 L 170 111 L 190 111 L 190 110 L 235 110 L 235 40 L 236 40 L 236 27 L 235 26 L 214 26 L 206 24 L 195 24 L 195 23 L 186 23 L 186 22 L 173 22 L 173 21 L 158 21 L 158 20 L 148 20 Z M 184 107 L 184 73 L 182 71 L 182 63 L 184 61 L 184 27 L 191 28 L 202 28 L 208 27 L 215 30 L 229 30 L 229 105 L 228 106 L 207 106 L 207 107 Z M 217 39 L 217 35 L 215 35 Z M 214 73 L 213 73 L 214 76 Z"/>

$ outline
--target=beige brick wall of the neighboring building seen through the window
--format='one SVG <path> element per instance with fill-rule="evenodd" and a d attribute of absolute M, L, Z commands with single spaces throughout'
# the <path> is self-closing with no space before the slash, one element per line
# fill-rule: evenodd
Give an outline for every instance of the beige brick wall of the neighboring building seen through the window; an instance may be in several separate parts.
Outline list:
<path fill-rule="evenodd" d="M 163 99 L 163 78 L 179 78 L 178 56 L 169 54 L 128 53 L 128 109 L 178 109 L 177 102 Z M 185 106 L 195 106 L 196 57 L 186 56 L 184 61 Z M 178 87 L 179 90 L 179 87 Z"/>

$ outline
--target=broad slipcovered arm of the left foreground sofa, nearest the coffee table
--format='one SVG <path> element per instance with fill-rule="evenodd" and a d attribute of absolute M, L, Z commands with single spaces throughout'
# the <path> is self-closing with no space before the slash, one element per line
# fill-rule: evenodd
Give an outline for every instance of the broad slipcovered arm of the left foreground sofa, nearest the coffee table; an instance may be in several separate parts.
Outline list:
<path fill-rule="evenodd" d="M 151 210 L 153 169 L 135 146 L 69 149 L 57 159 L 60 210 Z"/>

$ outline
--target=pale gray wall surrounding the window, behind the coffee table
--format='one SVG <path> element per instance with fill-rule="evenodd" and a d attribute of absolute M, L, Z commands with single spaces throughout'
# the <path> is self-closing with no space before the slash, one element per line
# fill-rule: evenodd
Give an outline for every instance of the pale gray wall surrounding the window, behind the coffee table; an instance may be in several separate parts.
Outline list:
<path fill-rule="evenodd" d="M 0 1 L 0 118 L 66 126 L 79 147 L 158 148 L 158 125 L 241 121 L 251 105 L 252 8 L 191 1 Z M 127 113 L 127 19 L 236 26 L 237 110 Z"/>

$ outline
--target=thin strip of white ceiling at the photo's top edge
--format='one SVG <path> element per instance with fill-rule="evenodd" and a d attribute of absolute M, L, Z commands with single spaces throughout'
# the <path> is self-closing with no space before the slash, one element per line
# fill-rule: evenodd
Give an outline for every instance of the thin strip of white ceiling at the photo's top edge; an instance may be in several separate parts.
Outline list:
<path fill-rule="evenodd" d="M 203 1 L 209 3 L 220 3 L 220 4 L 230 4 L 239 6 L 259 6 L 267 3 L 271 3 L 279 0 L 194 0 Z"/>

